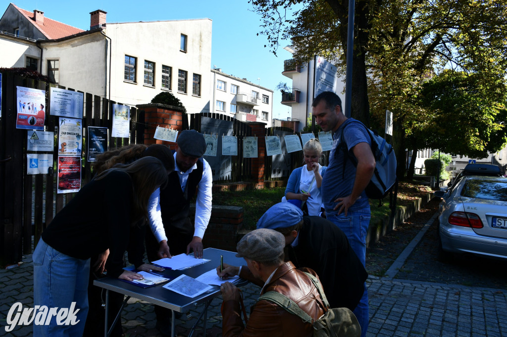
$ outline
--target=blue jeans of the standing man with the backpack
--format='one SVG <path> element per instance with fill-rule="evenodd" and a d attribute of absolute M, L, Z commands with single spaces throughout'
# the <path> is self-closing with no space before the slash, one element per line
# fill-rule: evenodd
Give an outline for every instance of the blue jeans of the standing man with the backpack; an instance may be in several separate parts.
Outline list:
<path fill-rule="evenodd" d="M 328 220 L 337 225 L 347 236 L 352 250 L 359 258 L 359 261 L 366 266 L 366 235 L 368 226 L 370 226 L 370 207 L 361 210 L 348 210 L 347 216 L 344 213 L 340 215 L 330 215 Z M 365 292 L 354 309 L 353 313 L 361 325 L 361 337 L 366 335 L 369 322 L 368 289 L 365 283 Z"/>

